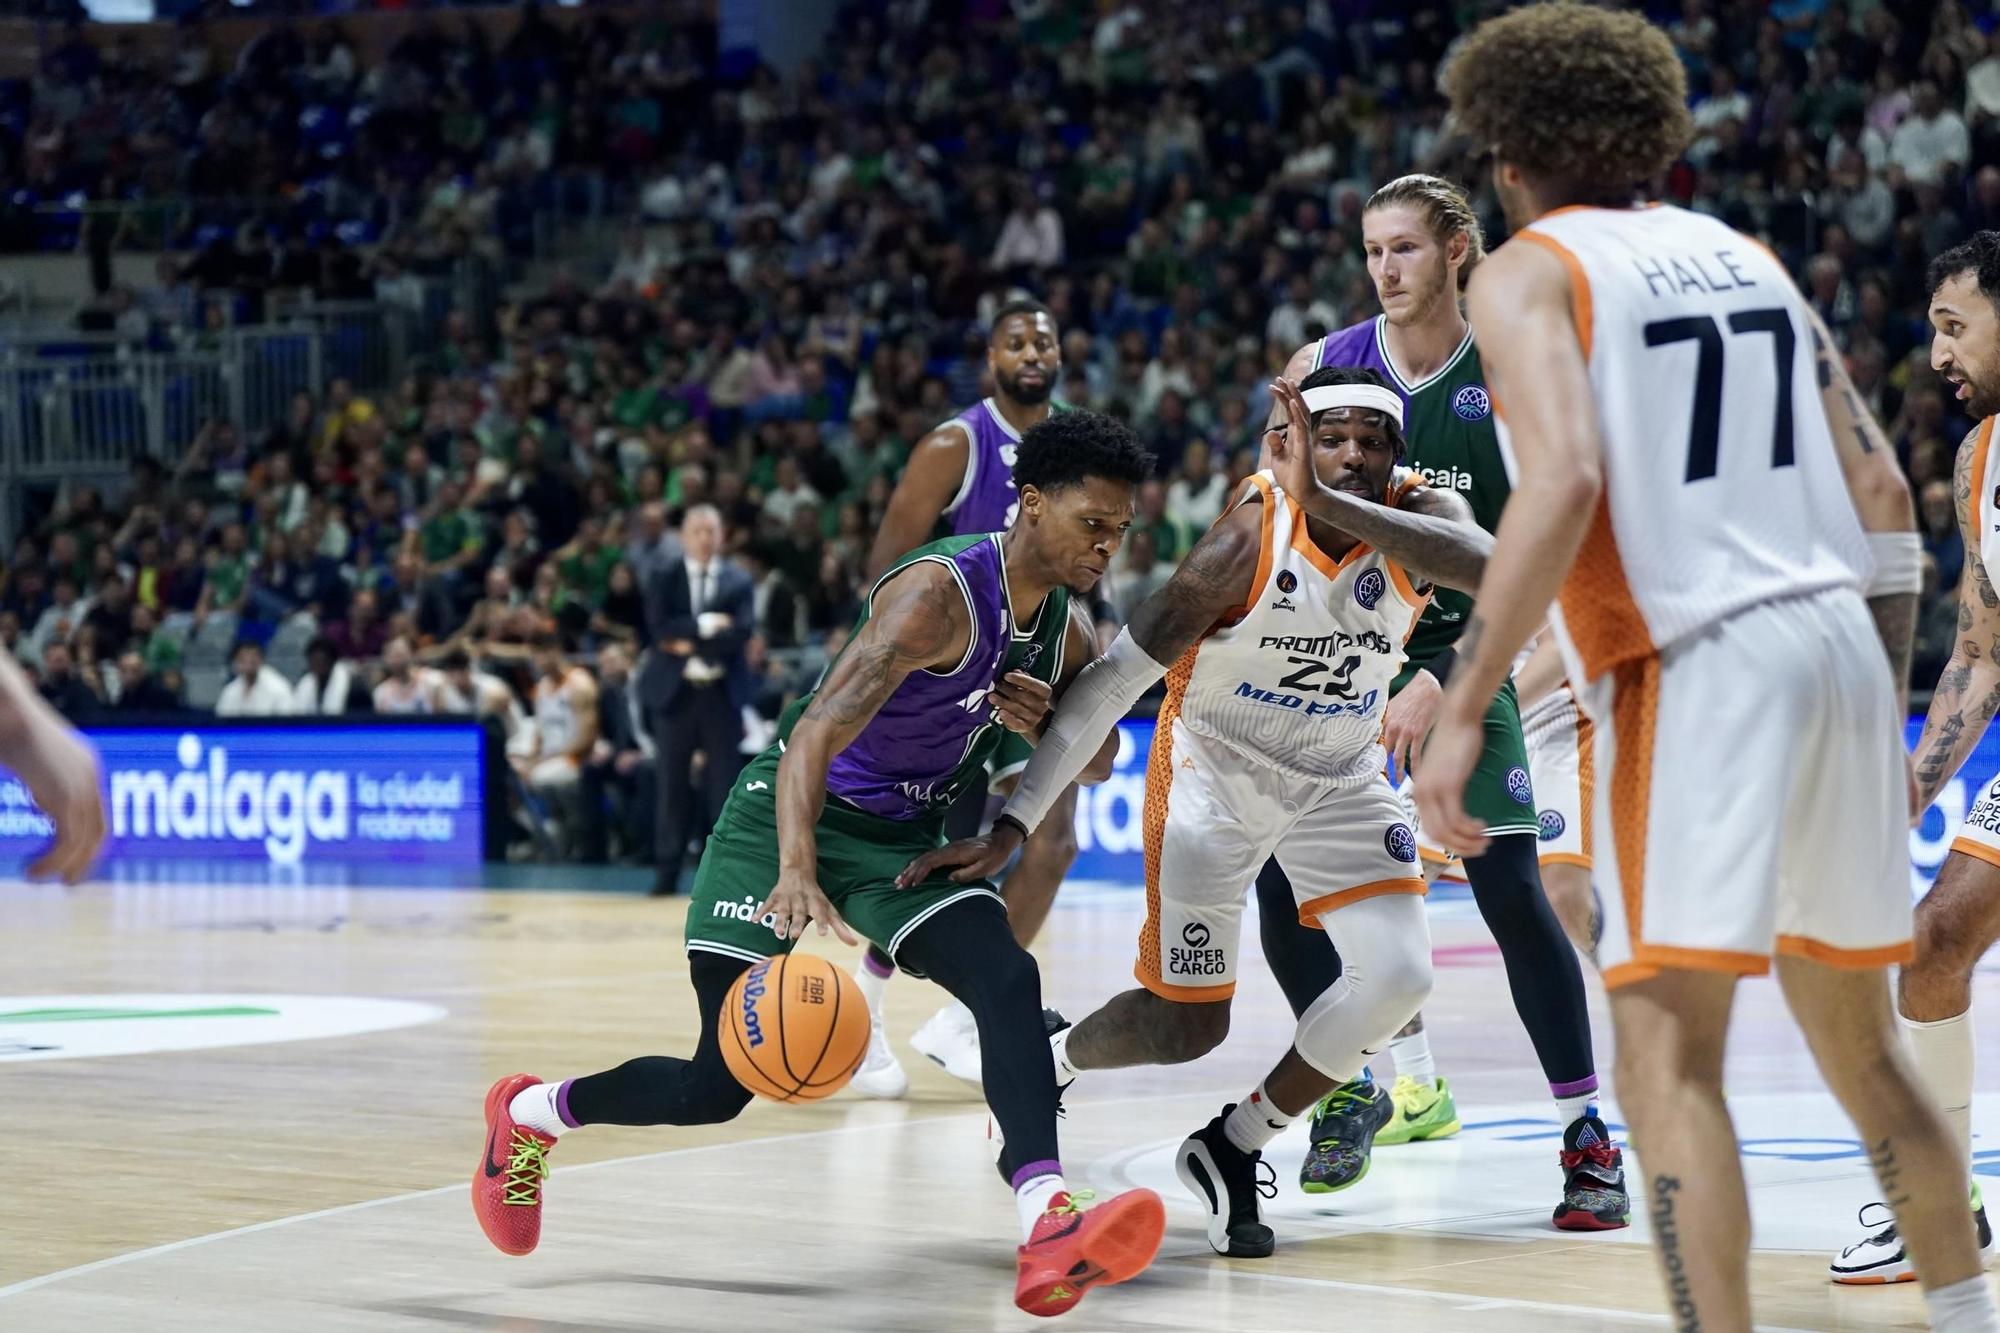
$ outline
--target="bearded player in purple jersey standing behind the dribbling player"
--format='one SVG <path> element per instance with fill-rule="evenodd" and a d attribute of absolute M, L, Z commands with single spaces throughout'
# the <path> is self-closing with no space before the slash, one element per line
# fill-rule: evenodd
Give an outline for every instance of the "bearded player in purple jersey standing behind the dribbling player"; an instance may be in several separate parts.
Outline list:
<path fill-rule="evenodd" d="M 1010 300 L 994 314 L 986 342 L 986 368 L 994 394 L 950 418 L 910 452 L 910 464 L 882 514 L 868 576 L 876 578 L 906 550 L 936 536 L 1004 532 L 1014 522 L 1020 492 L 1014 488 L 1014 452 L 1024 430 L 1050 412 L 1066 410 L 1050 394 L 1062 374 L 1062 330 L 1038 300 Z M 978 833 L 988 817 L 988 801 L 1002 799 L 1028 765 L 1032 747 L 1012 733 L 1002 739 L 986 765 L 986 783 L 974 783 L 952 809 L 952 837 Z M 1008 923 L 1022 947 L 1034 943 L 1056 887 L 1076 861 L 1076 789 L 1036 829 L 1020 851 L 1020 861 L 1000 885 Z M 868 1059 L 854 1075 L 854 1089 L 868 1097 L 902 1097 L 910 1077 L 896 1061 L 882 1029 L 882 991 L 894 967 L 880 949 L 862 955 L 854 973 L 868 999 L 874 1031 Z M 910 1037 L 910 1045 L 952 1077 L 980 1083 L 980 1033 L 972 1011 L 952 1001 Z"/>

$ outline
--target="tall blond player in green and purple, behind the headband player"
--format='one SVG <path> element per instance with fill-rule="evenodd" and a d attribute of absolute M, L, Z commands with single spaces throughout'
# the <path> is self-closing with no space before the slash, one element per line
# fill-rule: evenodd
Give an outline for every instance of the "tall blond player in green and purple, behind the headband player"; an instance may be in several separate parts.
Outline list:
<path fill-rule="evenodd" d="M 1508 498 L 1508 474 L 1480 352 L 1458 308 L 1466 278 L 1484 254 L 1478 218 L 1448 180 L 1402 176 L 1368 200 L 1362 246 L 1382 314 L 1302 346 L 1286 374 L 1304 378 L 1318 366 L 1368 366 L 1382 374 L 1408 404 L 1408 466 L 1430 486 L 1464 498 L 1478 524 L 1492 532 Z M 1412 761 L 1422 765 L 1424 737 L 1438 713 L 1454 644 L 1470 610 L 1466 592 L 1438 588 L 1410 636 L 1408 662 L 1396 675 L 1382 737 L 1404 775 Z M 1538 865 L 1542 823 L 1534 787 L 1540 777 L 1530 779 L 1522 715 L 1510 681 L 1486 711 L 1486 749 L 1468 797 L 1486 819 L 1492 843 L 1484 855 L 1464 863 L 1464 873 L 1500 945 L 1514 1009 L 1542 1061 L 1564 1127 L 1558 1153 L 1564 1185 L 1554 1223 L 1564 1231 L 1610 1231 L 1628 1225 L 1632 1203 L 1622 1157 L 1598 1119 L 1584 975 L 1564 937 L 1564 921 L 1550 905 L 1552 899 L 1562 905 L 1574 919 L 1570 933 L 1588 939 L 1590 871 L 1574 859 Z M 1552 773 L 1552 787 L 1554 781 Z M 1570 781 L 1576 781 L 1574 769 Z M 1574 809 L 1576 801 L 1560 805 Z M 1436 875 L 1448 855 L 1434 849 L 1422 829 L 1418 845 L 1426 869 Z M 1544 875 L 1548 895 L 1542 893 Z M 1264 955 L 1294 1011 L 1300 1011 L 1324 993 L 1340 961 L 1324 931 L 1290 925 L 1288 903 L 1292 885 L 1270 863 L 1258 877 Z M 1458 1133 L 1458 1107 L 1450 1085 L 1436 1075 L 1422 1015 L 1396 1035 L 1390 1057 L 1396 1083 L 1386 1095 L 1364 1073 L 1334 1089 L 1316 1109 L 1314 1147 L 1300 1169 L 1300 1187 L 1308 1193 L 1360 1181 L 1378 1137 L 1382 1143 L 1408 1143 Z"/>

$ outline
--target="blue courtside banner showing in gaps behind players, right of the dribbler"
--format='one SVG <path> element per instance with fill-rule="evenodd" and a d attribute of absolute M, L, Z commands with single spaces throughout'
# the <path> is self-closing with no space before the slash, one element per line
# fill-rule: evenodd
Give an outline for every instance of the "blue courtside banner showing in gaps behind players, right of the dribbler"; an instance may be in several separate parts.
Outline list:
<path fill-rule="evenodd" d="M 1916 747 L 1924 719 L 1912 717 L 1906 745 Z M 1118 761 L 1112 777 L 1098 787 L 1086 787 L 1076 801 L 1076 869 L 1074 879 L 1096 879 L 1140 885 L 1146 877 L 1144 809 L 1146 751 L 1152 749 L 1152 723 L 1120 723 Z M 1952 835 L 1964 823 L 1972 801 L 2000 775 L 2000 727 L 1988 729 L 1978 747 L 1924 813 L 1924 823 L 1910 831 L 1910 893 L 1930 887 L 1952 847 Z M 1754 793 L 1746 793 L 1756 799 Z"/>

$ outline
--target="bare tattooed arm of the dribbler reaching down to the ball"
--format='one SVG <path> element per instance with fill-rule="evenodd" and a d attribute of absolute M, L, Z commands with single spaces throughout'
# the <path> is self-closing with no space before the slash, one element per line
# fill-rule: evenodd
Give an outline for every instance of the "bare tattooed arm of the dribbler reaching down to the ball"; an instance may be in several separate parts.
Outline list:
<path fill-rule="evenodd" d="M 972 608 L 950 570 L 936 560 L 900 570 L 876 590 L 868 620 L 792 725 L 778 761 L 778 885 L 756 911 L 758 919 L 776 913 L 780 939 L 802 935 L 812 919 L 822 935 L 832 925 L 840 939 L 858 943 L 818 887 L 816 829 L 826 807 L 826 771 L 904 677 L 960 660 L 970 634 Z"/>

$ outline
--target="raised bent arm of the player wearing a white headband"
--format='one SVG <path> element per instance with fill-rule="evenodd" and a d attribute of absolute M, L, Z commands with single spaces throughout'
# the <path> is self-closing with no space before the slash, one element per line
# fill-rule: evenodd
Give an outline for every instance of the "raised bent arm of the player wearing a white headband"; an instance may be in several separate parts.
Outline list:
<path fill-rule="evenodd" d="M 1294 380 L 1272 384 L 1272 396 L 1286 408 L 1286 430 L 1268 436 L 1266 448 L 1286 494 L 1298 498 L 1306 514 L 1348 536 L 1368 542 L 1426 582 L 1474 592 L 1486 570 L 1494 538 L 1472 518 L 1472 506 L 1452 490 L 1418 486 L 1396 508 L 1354 494 L 1328 490 L 1312 476 L 1310 452 L 1296 458 L 1296 442 L 1312 440 L 1312 414 Z"/>

